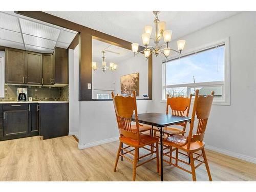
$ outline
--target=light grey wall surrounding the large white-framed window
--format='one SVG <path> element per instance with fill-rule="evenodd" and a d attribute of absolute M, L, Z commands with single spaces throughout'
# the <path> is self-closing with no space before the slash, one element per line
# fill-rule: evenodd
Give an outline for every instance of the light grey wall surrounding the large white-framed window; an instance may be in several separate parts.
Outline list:
<path fill-rule="evenodd" d="M 182 39 L 189 50 L 229 36 L 231 104 L 212 106 L 204 141 L 212 150 L 256 163 L 256 12 L 242 12 Z M 176 48 L 176 41 L 171 46 Z M 161 86 L 161 59 L 154 57 L 151 111 L 165 111 Z"/>

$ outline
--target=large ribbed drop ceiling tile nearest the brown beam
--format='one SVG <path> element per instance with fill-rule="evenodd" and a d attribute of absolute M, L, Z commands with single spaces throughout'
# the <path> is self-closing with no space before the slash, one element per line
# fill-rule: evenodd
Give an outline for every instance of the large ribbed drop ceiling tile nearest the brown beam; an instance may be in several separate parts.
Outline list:
<path fill-rule="evenodd" d="M 23 34 L 25 33 L 55 41 L 58 39 L 60 29 L 42 25 L 36 22 L 31 22 L 30 20 L 24 18 L 19 18 L 19 20 L 20 25 L 22 26 Z"/>

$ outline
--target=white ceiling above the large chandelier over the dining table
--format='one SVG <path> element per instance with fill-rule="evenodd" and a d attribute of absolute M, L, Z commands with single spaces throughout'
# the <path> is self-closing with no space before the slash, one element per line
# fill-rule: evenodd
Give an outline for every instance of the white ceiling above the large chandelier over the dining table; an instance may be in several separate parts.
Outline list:
<path fill-rule="evenodd" d="M 152 11 L 46 11 L 74 23 L 142 44 L 145 25 L 152 25 Z M 161 11 L 159 19 L 173 30 L 173 40 L 212 25 L 240 11 Z"/>

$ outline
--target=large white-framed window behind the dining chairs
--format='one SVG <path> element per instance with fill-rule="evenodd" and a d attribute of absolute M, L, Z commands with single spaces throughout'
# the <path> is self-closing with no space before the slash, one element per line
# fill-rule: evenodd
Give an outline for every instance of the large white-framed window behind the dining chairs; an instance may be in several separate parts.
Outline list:
<path fill-rule="evenodd" d="M 215 92 L 214 104 L 230 104 L 229 39 L 163 61 L 162 100 Z"/>

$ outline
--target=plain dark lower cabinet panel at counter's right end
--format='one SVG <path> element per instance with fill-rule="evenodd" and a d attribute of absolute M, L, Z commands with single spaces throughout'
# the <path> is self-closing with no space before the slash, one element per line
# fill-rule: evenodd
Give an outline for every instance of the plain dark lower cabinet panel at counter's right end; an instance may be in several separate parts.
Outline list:
<path fill-rule="evenodd" d="M 69 134 L 69 103 L 39 104 L 40 135 L 43 139 Z"/>

